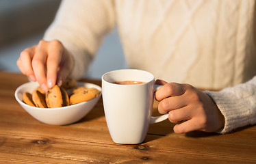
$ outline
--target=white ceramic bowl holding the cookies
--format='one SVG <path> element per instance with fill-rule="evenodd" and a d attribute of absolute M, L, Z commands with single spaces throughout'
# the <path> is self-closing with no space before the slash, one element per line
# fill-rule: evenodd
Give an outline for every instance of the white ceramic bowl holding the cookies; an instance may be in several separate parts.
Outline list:
<path fill-rule="evenodd" d="M 86 86 L 86 87 L 95 87 L 97 90 L 101 91 L 101 87 L 99 85 L 95 85 L 92 83 L 77 83 L 78 86 Z M 88 100 L 86 102 L 81 102 L 76 105 L 70 105 L 67 107 L 59 107 L 59 108 L 38 108 L 31 107 L 23 102 L 23 93 L 29 92 L 32 93 L 36 87 L 38 87 L 38 83 L 29 82 L 24 83 L 20 87 L 18 87 L 15 91 L 15 98 L 20 103 L 20 105 L 36 120 L 43 122 L 45 124 L 52 125 L 65 125 L 72 124 L 84 118 L 84 116 L 89 113 L 94 105 L 98 102 L 101 94 L 92 100 Z"/>

